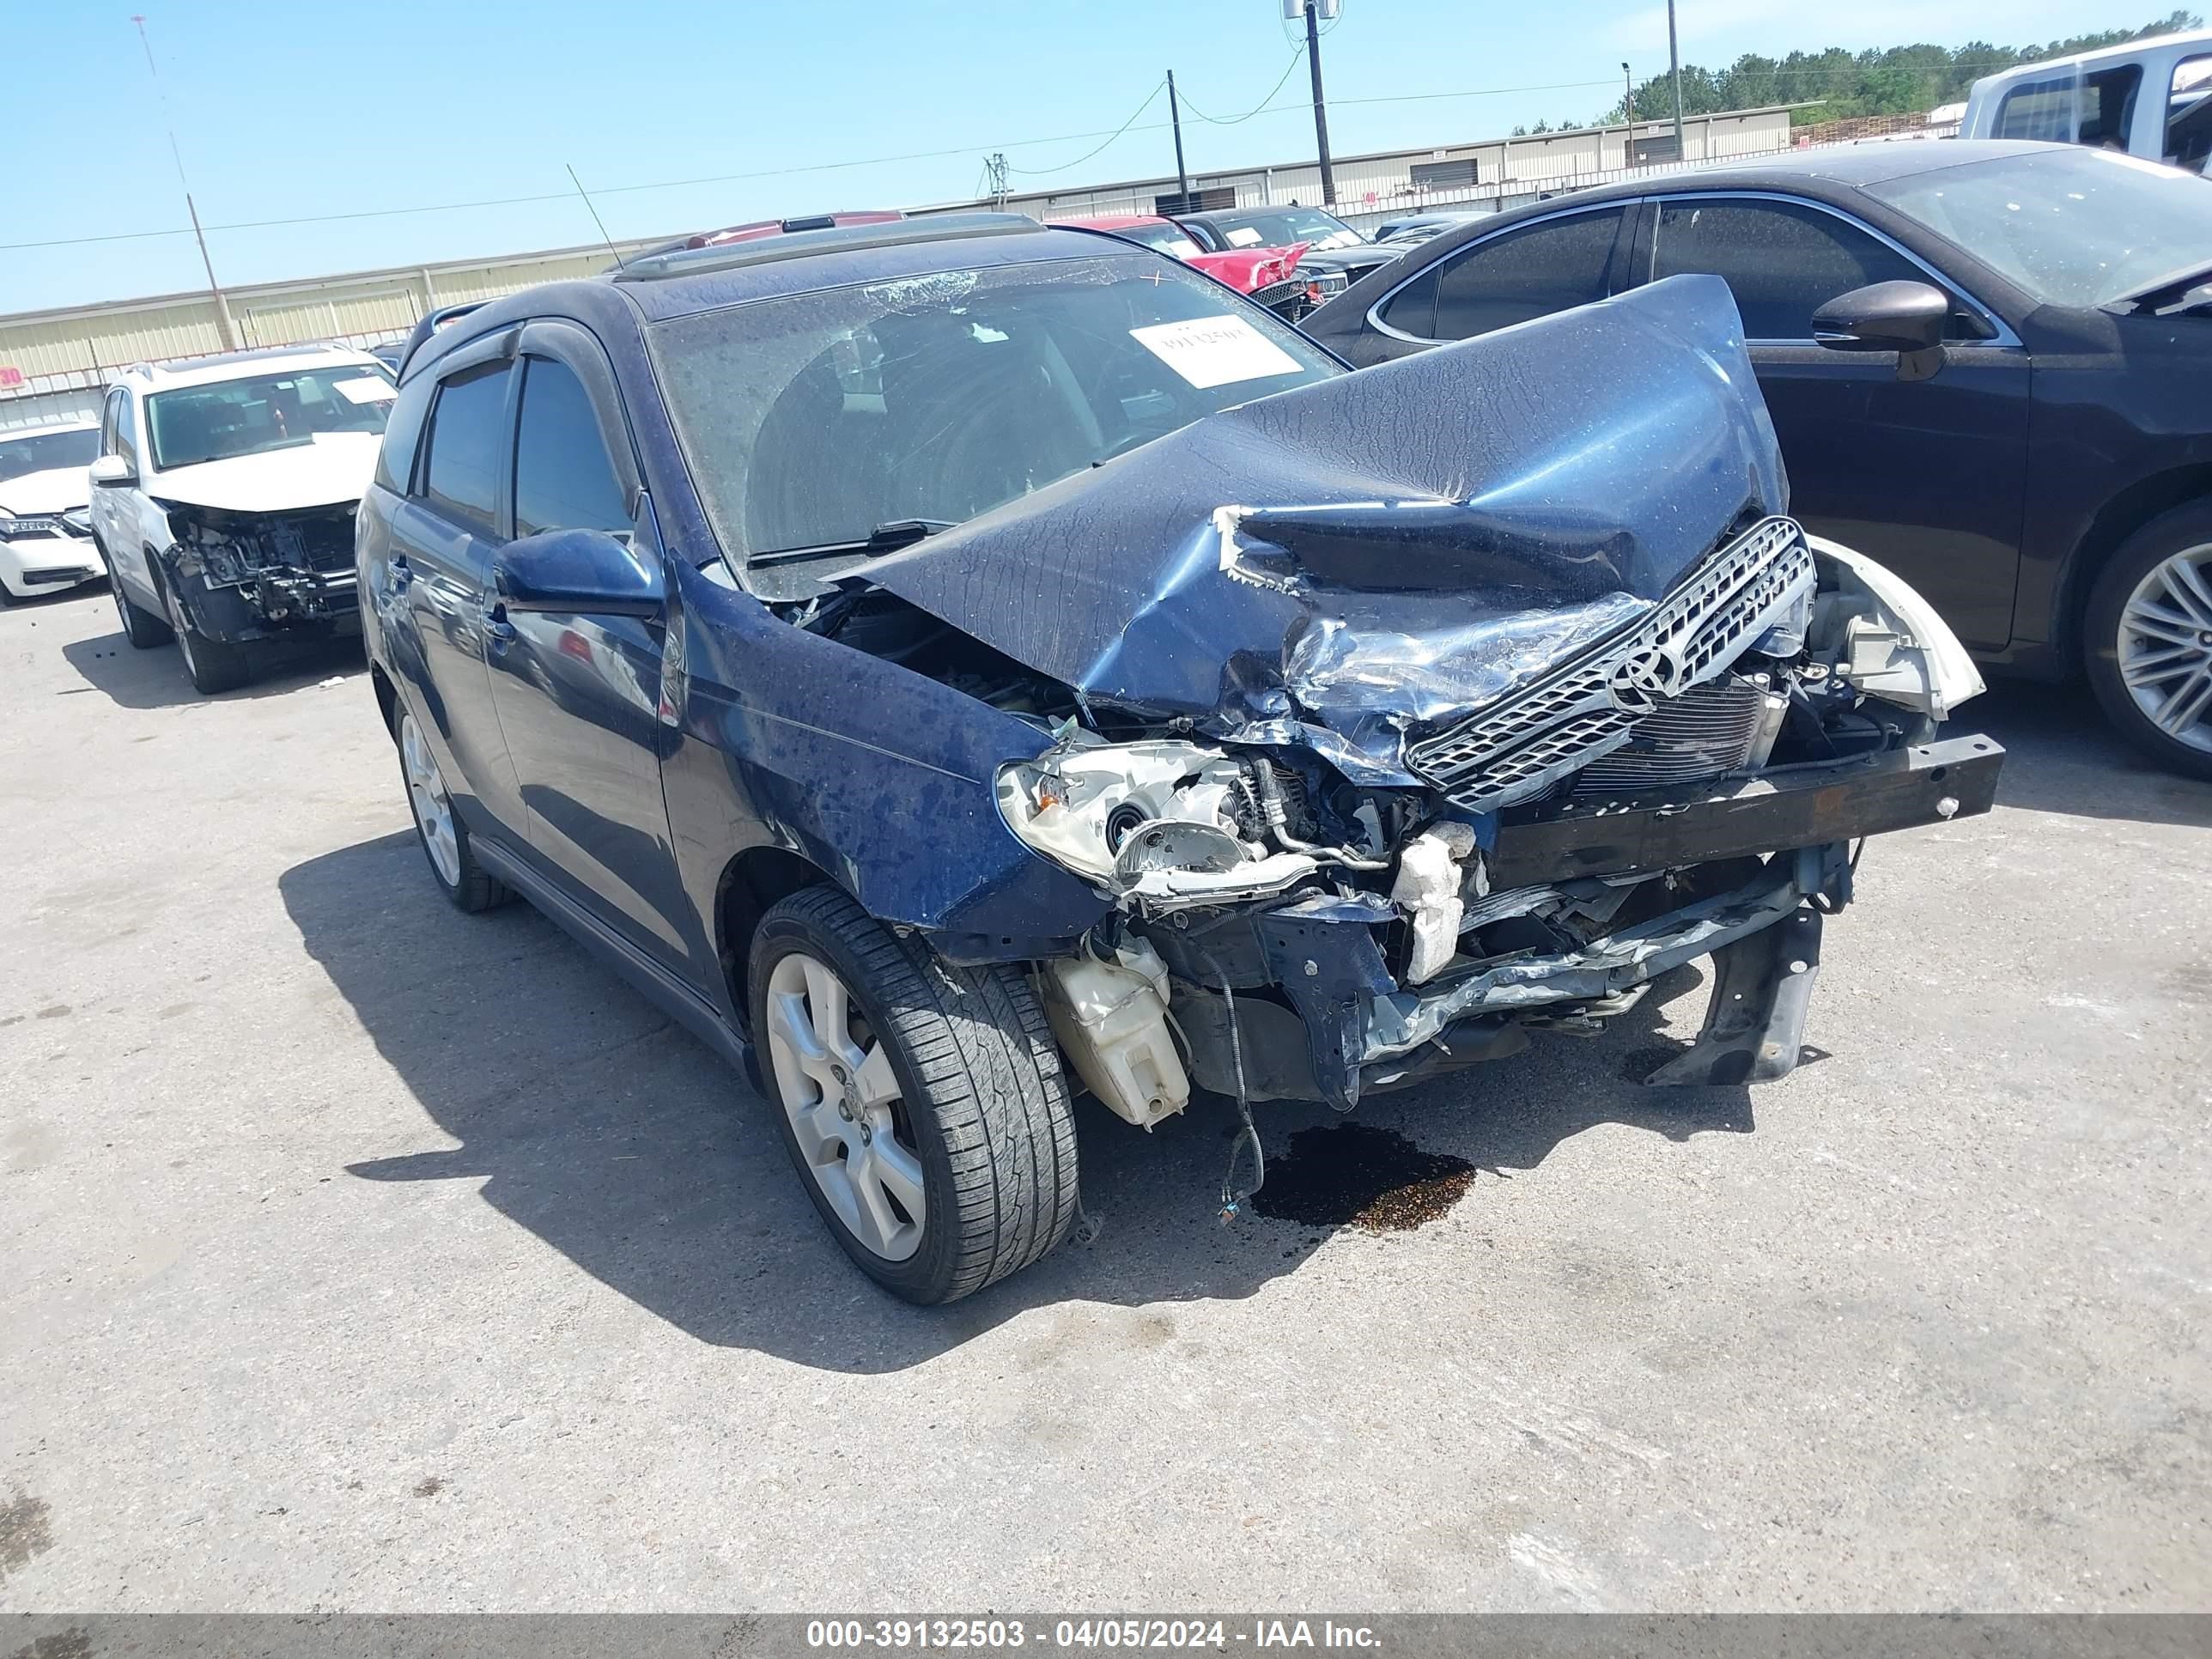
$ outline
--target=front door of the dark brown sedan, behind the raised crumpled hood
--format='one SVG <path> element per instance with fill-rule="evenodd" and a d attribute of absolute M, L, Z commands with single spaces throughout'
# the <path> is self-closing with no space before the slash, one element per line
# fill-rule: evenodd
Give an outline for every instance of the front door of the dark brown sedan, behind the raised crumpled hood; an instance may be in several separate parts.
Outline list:
<path fill-rule="evenodd" d="M 1754 192 L 1655 199 L 1650 279 L 1708 272 L 1743 314 L 1759 389 L 1807 529 L 1889 564 L 1960 637 L 2011 639 L 2028 460 L 2028 356 L 1991 312 L 1871 228 Z M 1955 301 L 1940 374 L 1832 352 L 1812 314 L 1854 288 L 1922 281 Z"/>

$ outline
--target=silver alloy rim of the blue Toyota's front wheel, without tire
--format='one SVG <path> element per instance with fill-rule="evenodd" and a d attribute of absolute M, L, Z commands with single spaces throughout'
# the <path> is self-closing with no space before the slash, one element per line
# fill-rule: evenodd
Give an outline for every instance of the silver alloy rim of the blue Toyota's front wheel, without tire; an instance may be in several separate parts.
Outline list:
<path fill-rule="evenodd" d="M 807 1175 L 874 1256 L 907 1261 L 927 1197 L 883 1037 L 825 962 L 792 951 L 768 975 L 768 1062 Z"/>

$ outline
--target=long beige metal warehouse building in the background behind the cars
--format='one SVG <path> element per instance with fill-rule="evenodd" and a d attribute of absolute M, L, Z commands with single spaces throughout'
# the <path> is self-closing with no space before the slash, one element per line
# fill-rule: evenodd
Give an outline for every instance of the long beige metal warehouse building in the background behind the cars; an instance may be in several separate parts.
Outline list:
<path fill-rule="evenodd" d="M 1683 157 L 1674 157 L 1672 119 L 1588 126 L 1564 133 L 1451 144 L 1429 150 L 1378 150 L 1336 157 L 1338 212 L 1371 226 L 1394 212 L 1427 206 L 1513 206 L 1553 190 L 1604 184 L 1630 170 L 1663 173 L 1674 166 L 1765 155 L 1790 148 L 1790 108 L 1692 115 L 1683 122 Z M 1314 161 L 1192 173 L 1199 208 L 1252 208 L 1321 201 Z M 1110 212 L 1157 212 L 1175 206 L 1175 177 L 1124 179 L 1071 190 L 947 201 L 920 212 L 1004 206 L 1035 219 L 1073 219 Z M 796 201 L 792 212 L 818 210 Z M 666 237 L 619 243 L 624 254 Z M 611 263 L 604 243 L 551 248 L 498 259 L 442 265 L 394 265 L 345 276 L 307 276 L 285 283 L 153 299 L 73 305 L 0 316 L 0 429 L 95 414 L 100 387 L 128 363 L 204 356 L 223 349 L 223 316 L 239 345 L 296 345 L 347 341 L 369 345 L 405 334 L 438 307 L 495 299 L 564 276 L 588 276 Z"/>

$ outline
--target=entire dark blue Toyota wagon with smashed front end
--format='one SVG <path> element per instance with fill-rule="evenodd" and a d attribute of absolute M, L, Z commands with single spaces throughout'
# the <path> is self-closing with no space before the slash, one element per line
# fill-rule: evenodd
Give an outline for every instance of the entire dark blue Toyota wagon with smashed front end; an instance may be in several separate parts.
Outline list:
<path fill-rule="evenodd" d="M 1989 807 L 1929 604 L 1787 515 L 1717 276 L 1360 374 L 1097 232 L 635 261 L 418 330 L 358 557 L 431 876 L 522 894 L 949 1301 L 1073 1099 L 1325 1102 L 1714 958 L 1655 1084 L 1798 1062 L 1856 843 Z"/>

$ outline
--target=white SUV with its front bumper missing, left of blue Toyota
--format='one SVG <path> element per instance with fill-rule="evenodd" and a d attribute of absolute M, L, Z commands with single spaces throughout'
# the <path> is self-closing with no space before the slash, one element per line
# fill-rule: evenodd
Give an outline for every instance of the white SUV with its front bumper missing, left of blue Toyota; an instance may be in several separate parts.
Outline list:
<path fill-rule="evenodd" d="M 91 526 L 133 646 L 184 653 L 192 684 L 252 677 L 257 641 L 354 633 L 354 509 L 392 374 L 299 345 L 139 365 L 108 387 Z"/>

